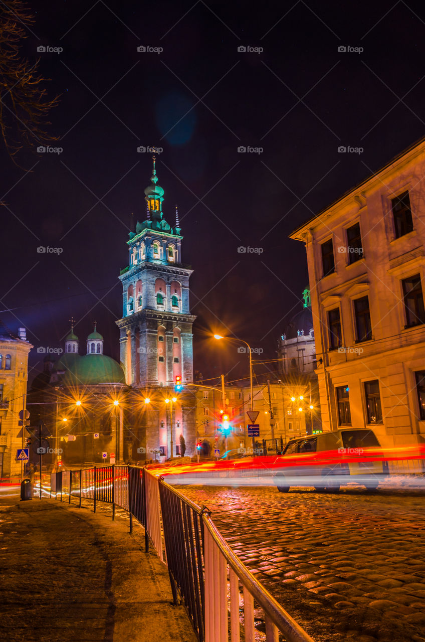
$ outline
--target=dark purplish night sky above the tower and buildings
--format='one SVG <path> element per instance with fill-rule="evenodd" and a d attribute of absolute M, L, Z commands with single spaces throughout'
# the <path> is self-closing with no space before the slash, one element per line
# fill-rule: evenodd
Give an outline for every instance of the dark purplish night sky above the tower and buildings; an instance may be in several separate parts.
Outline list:
<path fill-rule="evenodd" d="M 0 309 L 36 347 L 62 346 L 74 315 L 81 352 L 96 318 L 105 352 L 119 359 L 117 275 L 152 168 L 138 146 L 163 148 L 157 173 L 171 222 L 179 206 L 183 261 L 195 270 L 195 368 L 212 377 L 236 364 L 232 379 L 247 375 L 246 357 L 236 344 L 211 345 L 207 332 L 227 326 L 275 358 L 308 280 L 304 246 L 288 234 L 424 135 L 423 3 L 247 6 L 32 5 L 23 51 L 40 56 L 49 95 L 62 94 L 50 131 L 64 151 L 21 153 L 26 168 L 36 164 L 24 173 L 1 147 Z M 40 45 L 64 51 L 37 54 Z M 264 51 L 238 51 L 248 45 Z M 37 254 L 39 245 L 63 252 Z M 30 367 L 42 367 L 36 350 Z"/>

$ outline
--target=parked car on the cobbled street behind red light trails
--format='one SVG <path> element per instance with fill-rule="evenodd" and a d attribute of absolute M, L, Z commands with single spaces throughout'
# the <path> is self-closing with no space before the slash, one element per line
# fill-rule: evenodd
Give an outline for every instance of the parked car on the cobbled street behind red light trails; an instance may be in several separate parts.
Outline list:
<path fill-rule="evenodd" d="M 368 428 L 340 428 L 291 439 L 274 465 L 278 470 L 273 481 L 280 492 L 291 486 L 338 492 L 351 482 L 374 490 L 388 475 L 379 440 Z"/>

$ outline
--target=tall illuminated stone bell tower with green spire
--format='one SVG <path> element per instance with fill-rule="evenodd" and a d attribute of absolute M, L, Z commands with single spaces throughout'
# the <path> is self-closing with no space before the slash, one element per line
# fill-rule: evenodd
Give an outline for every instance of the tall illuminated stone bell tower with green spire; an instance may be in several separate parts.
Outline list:
<path fill-rule="evenodd" d="M 196 440 L 195 395 L 185 388 L 193 383 L 192 325 L 196 317 L 189 309 L 193 270 L 182 263 L 177 207 L 173 227 L 164 218 L 164 189 L 158 185 L 155 164 L 153 157 L 151 182 L 144 190 L 146 218 L 137 221 L 127 241 L 128 266 L 119 275 L 123 317 L 116 323 L 126 383 L 144 390 L 137 399 L 145 395 L 152 402 L 144 408 L 143 417 L 135 419 L 146 435 L 146 447 L 165 449 L 165 455 L 170 456 L 173 442 L 175 456 L 180 435 L 186 440 L 187 454 Z M 176 376 L 182 377 L 184 390 L 167 406 L 164 400 L 176 395 Z M 167 411 L 171 406 L 172 417 Z"/>

